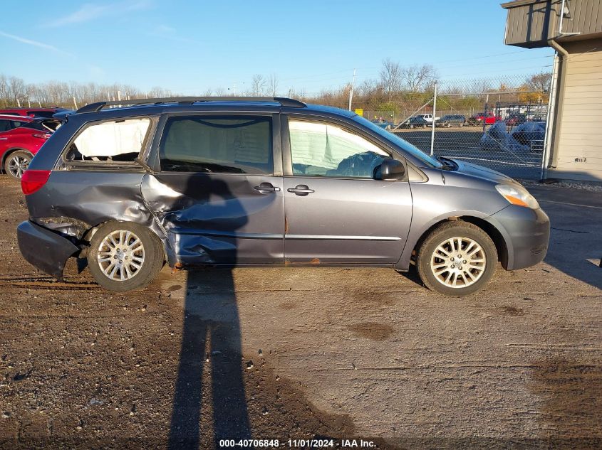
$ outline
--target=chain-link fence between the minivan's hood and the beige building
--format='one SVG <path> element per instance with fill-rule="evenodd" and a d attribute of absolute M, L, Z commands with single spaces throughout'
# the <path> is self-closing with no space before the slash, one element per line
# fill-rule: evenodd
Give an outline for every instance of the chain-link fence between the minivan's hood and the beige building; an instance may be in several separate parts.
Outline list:
<path fill-rule="evenodd" d="M 427 154 L 540 178 L 550 79 L 541 73 L 440 81 L 423 92 L 354 95 L 351 109 Z M 307 100 L 348 108 L 344 98 Z"/>

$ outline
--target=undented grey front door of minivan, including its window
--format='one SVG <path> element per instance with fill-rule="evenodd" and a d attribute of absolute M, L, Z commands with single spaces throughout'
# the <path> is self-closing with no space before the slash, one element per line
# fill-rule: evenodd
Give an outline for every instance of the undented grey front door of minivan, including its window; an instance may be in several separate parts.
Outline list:
<path fill-rule="evenodd" d="M 408 181 L 373 178 L 390 151 L 338 122 L 289 117 L 288 124 L 286 262 L 397 262 L 410 230 L 412 195 Z"/>

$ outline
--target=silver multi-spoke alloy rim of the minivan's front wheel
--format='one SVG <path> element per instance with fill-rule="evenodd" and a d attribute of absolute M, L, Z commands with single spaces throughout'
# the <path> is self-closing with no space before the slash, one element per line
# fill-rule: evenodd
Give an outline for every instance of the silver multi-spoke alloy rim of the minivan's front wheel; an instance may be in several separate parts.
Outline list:
<path fill-rule="evenodd" d="M 452 237 L 432 252 L 430 270 L 444 286 L 462 288 L 479 281 L 487 267 L 483 247 L 469 237 Z"/>

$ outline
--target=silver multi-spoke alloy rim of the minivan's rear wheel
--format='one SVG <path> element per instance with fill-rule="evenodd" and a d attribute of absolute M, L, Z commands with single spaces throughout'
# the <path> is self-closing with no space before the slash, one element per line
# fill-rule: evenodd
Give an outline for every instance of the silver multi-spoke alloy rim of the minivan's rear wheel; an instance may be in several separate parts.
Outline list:
<path fill-rule="evenodd" d="M 116 230 L 98 246 L 98 266 L 105 277 L 125 282 L 135 277 L 145 261 L 140 237 L 128 230 Z"/>

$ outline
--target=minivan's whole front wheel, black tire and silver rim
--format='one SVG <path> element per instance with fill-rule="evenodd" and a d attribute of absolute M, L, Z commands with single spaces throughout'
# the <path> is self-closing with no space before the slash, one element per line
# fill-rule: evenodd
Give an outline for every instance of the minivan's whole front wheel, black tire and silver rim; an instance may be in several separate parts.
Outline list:
<path fill-rule="evenodd" d="M 455 220 L 435 228 L 418 252 L 420 279 L 431 290 L 464 296 L 492 278 L 497 250 L 489 235 L 472 223 Z"/>

